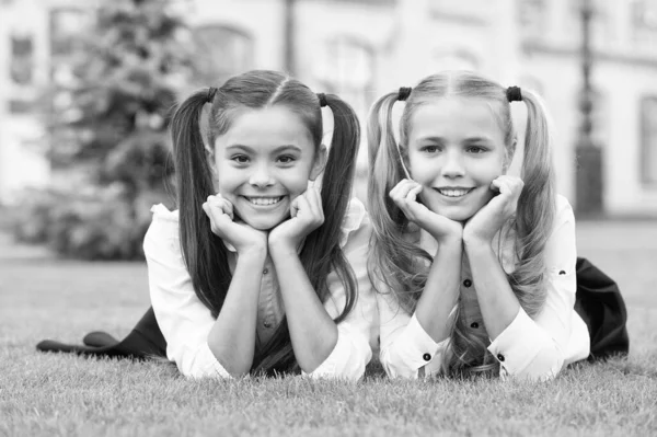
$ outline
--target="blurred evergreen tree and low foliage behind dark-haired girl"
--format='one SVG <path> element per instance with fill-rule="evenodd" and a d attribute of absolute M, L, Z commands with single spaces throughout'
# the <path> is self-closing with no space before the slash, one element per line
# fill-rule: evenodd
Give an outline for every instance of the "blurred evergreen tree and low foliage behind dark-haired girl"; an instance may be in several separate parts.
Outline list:
<path fill-rule="evenodd" d="M 169 117 L 194 74 L 188 31 L 168 11 L 165 0 L 104 2 L 54 65 L 47 120 L 60 184 L 26 203 L 20 238 L 77 257 L 141 256 L 149 206 L 173 197 Z"/>

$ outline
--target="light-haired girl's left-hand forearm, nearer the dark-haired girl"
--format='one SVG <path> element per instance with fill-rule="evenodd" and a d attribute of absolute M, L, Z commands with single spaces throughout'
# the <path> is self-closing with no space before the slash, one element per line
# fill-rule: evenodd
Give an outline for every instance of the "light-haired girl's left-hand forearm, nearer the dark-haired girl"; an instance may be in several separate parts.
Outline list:
<path fill-rule="evenodd" d="M 449 314 L 459 297 L 462 255 L 461 240 L 439 245 L 415 309 L 417 321 L 435 342 L 447 338 L 451 330 Z"/>

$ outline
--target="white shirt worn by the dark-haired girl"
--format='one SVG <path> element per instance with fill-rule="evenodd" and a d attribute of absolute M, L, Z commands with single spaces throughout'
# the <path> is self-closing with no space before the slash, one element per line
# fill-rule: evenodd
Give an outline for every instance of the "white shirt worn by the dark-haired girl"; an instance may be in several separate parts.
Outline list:
<path fill-rule="evenodd" d="M 166 340 L 166 356 L 180 371 L 194 378 L 230 378 L 208 347 L 208 334 L 215 324 L 210 310 L 198 299 L 181 252 L 178 211 L 163 205 L 152 207 L 153 219 L 146 233 L 143 252 L 148 262 L 149 289 L 155 319 Z M 337 325 L 333 352 L 311 377 L 358 379 L 371 358 L 370 331 L 377 302 L 367 273 L 367 253 L 371 226 L 365 206 L 351 199 L 342 223 L 339 245 L 354 271 L 358 286 L 356 304 Z M 229 249 L 229 266 L 234 272 L 237 254 Z M 263 271 L 258 301 L 258 342 L 265 343 L 284 317 L 278 280 L 270 260 Z M 336 272 L 326 278 L 331 296 L 324 308 L 335 319 L 345 307 L 345 289 Z"/>

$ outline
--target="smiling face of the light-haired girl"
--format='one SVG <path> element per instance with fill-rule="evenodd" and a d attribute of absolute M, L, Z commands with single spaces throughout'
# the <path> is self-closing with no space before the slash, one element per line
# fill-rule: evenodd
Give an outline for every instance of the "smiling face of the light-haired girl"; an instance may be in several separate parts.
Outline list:
<path fill-rule="evenodd" d="M 484 101 L 440 99 L 417 107 L 408 136 L 411 176 L 431 211 L 465 221 L 491 200 L 504 173 L 504 134 Z"/>

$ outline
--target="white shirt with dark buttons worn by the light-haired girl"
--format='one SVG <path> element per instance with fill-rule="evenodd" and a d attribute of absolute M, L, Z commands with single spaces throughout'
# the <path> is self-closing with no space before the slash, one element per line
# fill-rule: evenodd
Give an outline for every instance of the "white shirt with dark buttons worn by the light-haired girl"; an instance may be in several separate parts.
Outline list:
<path fill-rule="evenodd" d="M 502 252 L 505 272 L 515 269 L 515 235 L 500 233 L 494 241 Z M 413 235 L 411 235 L 413 237 Z M 420 230 L 415 235 L 422 249 L 433 254 L 437 242 Z M 418 238 L 417 238 L 418 237 Z M 471 330 L 485 330 L 472 284 L 470 266 L 463 255 L 461 268 L 461 299 L 465 325 Z M 574 310 L 577 287 L 575 266 L 575 217 L 573 208 L 563 196 L 556 197 L 554 228 L 545 248 L 548 267 L 546 301 L 532 319 L 522 308 L 505 331 L 492 340 L 488 350 L 500 365 L 500 376 L 528 379 L 549 379 L 558 373 L 564 365 L 588 357 L 590 340 L 588 327 Z M 383 368 L 391 377 L 417 378 L 424 367 L 425 376 L 440 372 L 442 352 L 447 340 L 436 343 L 422 327 L 415 314 L 408 314 L 397 303 L 394 294 L 378 294 L 381 353 Z"/>

